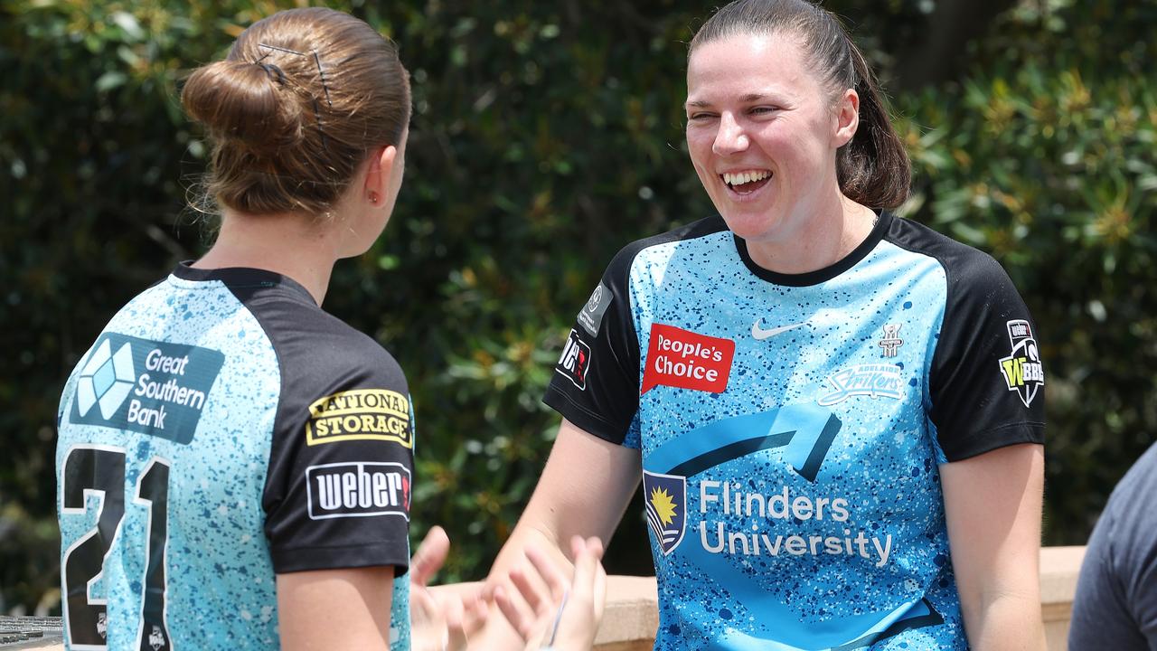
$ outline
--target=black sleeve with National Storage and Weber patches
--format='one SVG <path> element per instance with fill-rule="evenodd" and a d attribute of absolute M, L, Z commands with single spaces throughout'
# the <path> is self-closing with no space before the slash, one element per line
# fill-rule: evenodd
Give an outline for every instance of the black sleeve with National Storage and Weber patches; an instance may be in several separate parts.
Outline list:
<path fill-rule="evenodd" d="M 282 385 L 263 496 L 273 569 L 393 565 L 403 575 L 413 408 L 401 368 L 324 313 L 290 324 L 271 337 Z"/>

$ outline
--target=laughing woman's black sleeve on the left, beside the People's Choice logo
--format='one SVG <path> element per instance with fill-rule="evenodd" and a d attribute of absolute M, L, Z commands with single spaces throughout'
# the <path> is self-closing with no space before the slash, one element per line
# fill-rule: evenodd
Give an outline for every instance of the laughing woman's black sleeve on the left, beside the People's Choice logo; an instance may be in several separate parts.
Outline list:
<path fill-rule="evenodd" d="M 582 430 L 622 444 L 639 410 L 639 337 L 631 305 L 631 264 L 619 253 L 575 317 L 543 401 Z"/>

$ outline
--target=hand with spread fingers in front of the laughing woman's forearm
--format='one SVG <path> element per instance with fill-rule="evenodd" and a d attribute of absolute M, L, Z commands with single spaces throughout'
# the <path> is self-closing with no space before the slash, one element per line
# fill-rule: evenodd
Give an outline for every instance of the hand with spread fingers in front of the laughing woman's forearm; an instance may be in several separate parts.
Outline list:
<path fill-rule="evenodd" d="M 572 580 L 540 549 L 526 548 L 526 559 L 537 575 L 532 579 L 526 566 L 510 571 L 510 581 L 530 607 L 515 604 L 502 586 L 494 588 L 499 609 L 526 643 L 526 649 L 550 644 L 559 651 L 587 651 L 603 620 L 606 604 L 606 571 L 599 559 L 603 543 L 597 537 L 570 541 L 575 570 Z"/>

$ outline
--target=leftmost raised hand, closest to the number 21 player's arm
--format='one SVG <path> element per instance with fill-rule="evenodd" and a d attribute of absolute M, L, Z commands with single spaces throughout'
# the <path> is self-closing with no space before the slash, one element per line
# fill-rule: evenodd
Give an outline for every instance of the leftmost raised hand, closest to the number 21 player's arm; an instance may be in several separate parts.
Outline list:
<path fill-rule="evenodd" d="M 429 579 L 445 562 L 450 539 L 433 527 L 410 561 L 411 644 L 414 651 L 462 651 L 466 638 L 486 621 L 489 605 L 481 588 L 435 595 Z"/>

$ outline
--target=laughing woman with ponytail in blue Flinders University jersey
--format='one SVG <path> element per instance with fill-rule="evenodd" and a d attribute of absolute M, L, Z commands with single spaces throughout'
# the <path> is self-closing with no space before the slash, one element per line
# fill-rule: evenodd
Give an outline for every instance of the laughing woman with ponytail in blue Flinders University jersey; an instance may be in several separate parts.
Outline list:
<path fill-rule="evenodd" d="M 811 2 L 737 0 L 685 107 L 718 215 L 582 307 L 492 583 L 609 540 L 641 480 L 657 650 L 1044 649 L 1034 326 L 993 258 L 890 212 L 908 159 L 863 56 Z"/>

